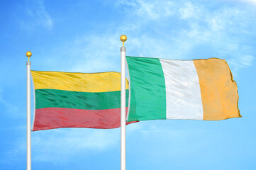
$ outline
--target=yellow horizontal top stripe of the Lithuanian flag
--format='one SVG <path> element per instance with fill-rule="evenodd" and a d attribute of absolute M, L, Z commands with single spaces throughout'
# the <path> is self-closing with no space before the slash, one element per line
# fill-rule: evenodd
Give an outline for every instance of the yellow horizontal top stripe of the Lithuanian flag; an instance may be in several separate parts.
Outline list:
<path fill-rule="evenodd" d="M 121 90 L 121 74 L 70 73 L 31 71 L 35 89 L 57 89 L 65 91 L 106 92 Z M 126 79 L 126 89 L 129 89 Z"/>

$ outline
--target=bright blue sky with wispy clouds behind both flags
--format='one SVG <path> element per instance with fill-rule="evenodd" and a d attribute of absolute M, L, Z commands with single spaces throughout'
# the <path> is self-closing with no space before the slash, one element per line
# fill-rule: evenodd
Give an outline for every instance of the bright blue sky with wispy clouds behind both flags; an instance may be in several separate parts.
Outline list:
<path fill-rule="evenodd" d="M 127 126 L 127 169 L 256 169 L 256 1 L 0 1 L 0 169 L 26 169 L 32 69 L 120 72 L 127 55 L 225 59 L 243 118 Z M 120 129 L 32 132 L 33 169 L 120 169 Z"/>

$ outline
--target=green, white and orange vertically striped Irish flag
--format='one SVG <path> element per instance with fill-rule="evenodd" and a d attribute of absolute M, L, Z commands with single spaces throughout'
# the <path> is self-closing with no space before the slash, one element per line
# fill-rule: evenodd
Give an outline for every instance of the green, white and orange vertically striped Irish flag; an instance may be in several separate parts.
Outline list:
<path fill-rule="evenodd" d="M 225 60 L 126 57 L 126 61 L 130 75 L 128 121 L 241 117 L 237 85 Z"/>

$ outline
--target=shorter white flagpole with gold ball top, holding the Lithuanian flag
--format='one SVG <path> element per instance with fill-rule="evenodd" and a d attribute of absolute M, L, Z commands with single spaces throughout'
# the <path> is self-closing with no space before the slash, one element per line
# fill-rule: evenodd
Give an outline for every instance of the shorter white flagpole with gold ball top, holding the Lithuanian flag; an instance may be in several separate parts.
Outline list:
<path fill-rule="evenodd" d="M 30 51 L 26 52 L 28 57 L 27 65 L 27 170 L 31 170 L 31 94 L 30 94 L 30 67 L 31 62 L 29 58 L 32 53 Z"/>

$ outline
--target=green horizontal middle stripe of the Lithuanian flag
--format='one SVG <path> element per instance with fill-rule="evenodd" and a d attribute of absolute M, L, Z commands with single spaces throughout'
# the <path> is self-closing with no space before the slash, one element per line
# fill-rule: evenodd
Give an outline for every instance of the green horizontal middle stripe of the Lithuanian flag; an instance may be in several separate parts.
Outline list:
<path fill-rule="evenodd" d="M 128 106 L 126 90 L 126 106 Z M 56 89 L 35 90 L 35 109 L 38 108 L 77 108 L 88 110 L 104 110 L 121 108 L 120 91 L 101 93 L 62 91 Z"/>

